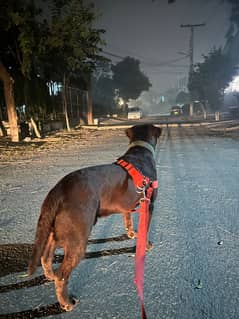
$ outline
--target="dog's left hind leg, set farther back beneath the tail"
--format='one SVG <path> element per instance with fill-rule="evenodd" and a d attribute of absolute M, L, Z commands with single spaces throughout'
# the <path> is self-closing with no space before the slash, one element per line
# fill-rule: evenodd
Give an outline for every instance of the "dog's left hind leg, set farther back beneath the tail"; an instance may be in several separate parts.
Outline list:
<path fill-rule="evenodd" d="M 44 274 L 48 280 L 54 280 L 54 272 L 52 269 L 52 260 L 56 249 L 56 242 L 53 232 L 50 233 L 43 256 L 41 257 L 41 265 Z"/>

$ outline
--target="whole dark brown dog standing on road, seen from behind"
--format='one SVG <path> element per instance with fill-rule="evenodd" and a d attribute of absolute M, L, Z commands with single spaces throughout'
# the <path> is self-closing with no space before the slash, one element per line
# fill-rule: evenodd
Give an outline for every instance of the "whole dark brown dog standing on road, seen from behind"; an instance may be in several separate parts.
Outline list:
<path fill-rule="evenodd" d="M 151 181 L 156 180 L 153 153 L 161 129 L 153 125 L 139 125 L 127 129 L 126 135 L 130 146 L 121 159 L 134 165 Z M 156 193 L 157 190 L 154 190 L 150 217 Z M 70 301 L 67 282 L 73 268 L 84 257 L 88 237 L 97 218 L 113 212 L 122 213 L 128 236 L 135 237 L 130 212 L 142 196 L 142 193 L 136 192 L 127 171 L 117 163 L 83 168 L 65 176 L 42 204 L 29 275 L 34 273 L 41 260 L 45 276 L 55 281 L 61 307 L 66 311 L 72 310 L 76 300 Z M 64 259 L 54 272 L 52 260 L 57 247 L 64 249 Z"/>

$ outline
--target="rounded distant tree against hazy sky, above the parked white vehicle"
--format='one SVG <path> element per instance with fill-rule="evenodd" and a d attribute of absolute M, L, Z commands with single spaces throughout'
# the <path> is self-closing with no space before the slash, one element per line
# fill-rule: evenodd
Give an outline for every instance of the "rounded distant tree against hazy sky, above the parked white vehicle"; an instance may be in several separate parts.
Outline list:
<path fill-rule="evenodd" d="M 115 87 L 125 102 L 137 99 L 143 91 L 148 91 L 151 87 L 149 79 L 140 71 L 139 66 L 140 61 L 131 57 L 112 65 Z"/>

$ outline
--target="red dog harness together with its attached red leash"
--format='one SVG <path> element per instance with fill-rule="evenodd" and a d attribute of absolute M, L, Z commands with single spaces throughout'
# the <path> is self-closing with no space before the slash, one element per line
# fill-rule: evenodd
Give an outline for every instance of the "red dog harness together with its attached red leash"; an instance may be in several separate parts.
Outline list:
<path fill-rule="evenodd" d="M 145 251 L 147 247 L 147 233 L 149 223 L 149 204 L 152 197 L 153 190 L 158 188 L 158 181 L 150 181 L 150 179 L 141 174 L 132 164 L 120 159 L 117 164 L 122 166 L 128 174 L 132 177 L 136 187 L 137 193 L 142 193 L 143 197 L 140 199 L 139 226 L 138 237 L 135 255 L 135 277 L 134 283 L 138 290 L 138 295 L 141 303 L 142 319 L 147 319 L 144 308 L 144 264 Z"/>

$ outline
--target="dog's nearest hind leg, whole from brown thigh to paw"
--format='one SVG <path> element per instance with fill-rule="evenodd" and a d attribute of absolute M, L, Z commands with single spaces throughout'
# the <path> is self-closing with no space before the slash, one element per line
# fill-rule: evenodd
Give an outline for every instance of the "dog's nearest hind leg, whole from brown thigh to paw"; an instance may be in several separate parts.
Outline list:
<path fill-rule="evenodd" d="M 78 201 L 77 198 L 75 203 L 65 204 L 64 210 L 58 212 L 55 221 L 56 242 L 57 246 L 64 249 L 64 259 L 55 271 L 54 280 L 57 299 L 65 311 L 71 311 L 77 302 L 76 299 L 70 300 L 67 284 L 72 270 L 85 255 L 98 207 L 98 202 L 93 199 L 88 202 L 88 197 L 86 203 L 79 204 Z"/>

